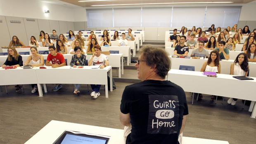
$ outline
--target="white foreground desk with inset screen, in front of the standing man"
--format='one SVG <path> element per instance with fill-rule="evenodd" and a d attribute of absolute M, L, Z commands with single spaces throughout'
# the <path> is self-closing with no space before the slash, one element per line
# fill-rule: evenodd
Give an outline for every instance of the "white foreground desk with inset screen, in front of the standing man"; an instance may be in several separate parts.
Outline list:
<path fill-rule="evenodd" d="M 125 144 L 123 130 L 51 120 L 25 144 L 52 144 L 65 130 L 109 136 L 108 144 Z M 45 138 L 47 137 L 47 139 Z M 229 144 L 227 141 L 183 137 L 182 144 Z"/>

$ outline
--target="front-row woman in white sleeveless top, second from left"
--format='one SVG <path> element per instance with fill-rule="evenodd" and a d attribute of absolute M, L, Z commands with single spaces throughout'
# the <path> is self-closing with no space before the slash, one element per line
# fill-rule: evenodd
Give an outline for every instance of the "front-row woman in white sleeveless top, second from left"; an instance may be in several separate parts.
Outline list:
<path fill-rule="evenodd" d="M 43 55 L 38 54 L 38 50 L 36 47 L 30 47 L 31 56 L 27 58 L 25 62 L 25 66 L 27 66 L 30 62 L 31 66 L 43 66 L 44 65 L 44 58 Z M 38 90 L 37 84 L 31 84 L 31 87 L 33 89 L 31 90 L 31 93 L 35 93 Z"/>

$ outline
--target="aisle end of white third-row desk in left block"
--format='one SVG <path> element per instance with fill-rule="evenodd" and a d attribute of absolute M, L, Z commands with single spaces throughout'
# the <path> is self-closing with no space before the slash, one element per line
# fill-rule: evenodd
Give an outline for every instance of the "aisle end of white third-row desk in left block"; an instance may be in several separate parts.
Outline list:
<path fill-rule="evenodd" d="M 110 46 L 110 47 L 101 47 L 101 50 L 103 52 L 109 51 L 109 50 L 118 50 L 120 54 L 123 54 L 123 57 L 127 57 L 127 65 L 129 66 L 130 63 L 130 46 Z"/>

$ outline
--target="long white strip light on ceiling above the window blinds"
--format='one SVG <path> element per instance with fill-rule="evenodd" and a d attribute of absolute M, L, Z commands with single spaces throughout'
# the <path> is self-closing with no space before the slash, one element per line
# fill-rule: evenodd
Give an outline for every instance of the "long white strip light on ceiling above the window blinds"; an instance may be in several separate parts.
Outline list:
<path fill-rule="evenodd" d="M 94 1 L 94 0 L 93 0 Z M 96 0 L 95 0 L 96 1 Z M 136 4 L 114 4 L 114 5 L 91 5 L 91 7 L 100 6 L 119 6 L 119 5 L 170 5 L 170 4 L 217 4 L 217 3 L 233 3 L 233 2 L 166 2 L 166 3 L 136 3 Z"/>

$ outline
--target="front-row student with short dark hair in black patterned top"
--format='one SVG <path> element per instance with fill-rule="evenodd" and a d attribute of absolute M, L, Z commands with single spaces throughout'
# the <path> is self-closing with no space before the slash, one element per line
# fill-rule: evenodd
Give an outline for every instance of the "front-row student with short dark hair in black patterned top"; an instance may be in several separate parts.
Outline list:
<path fill-rule="evenodd" d="M 76 54 L 74 54 L 72 56 L 72 59 L 71 59 L 71 62 L 70 62 L 70 66 L 73 67 L 73 68 L 76 68 L 76 66 L 86 66 L 86 56 L 85 54 L 82 54 L 82 49 L 81 47 L 75 47 L 74 48 L 74 51 Z M 75 86 L 75 90 L 74 90 L 74 94 L 78 95 L 80 94 L 80 87 L 81 87 L 81 84 L 74 84 Z"/>

